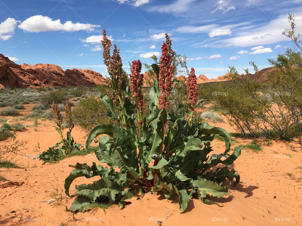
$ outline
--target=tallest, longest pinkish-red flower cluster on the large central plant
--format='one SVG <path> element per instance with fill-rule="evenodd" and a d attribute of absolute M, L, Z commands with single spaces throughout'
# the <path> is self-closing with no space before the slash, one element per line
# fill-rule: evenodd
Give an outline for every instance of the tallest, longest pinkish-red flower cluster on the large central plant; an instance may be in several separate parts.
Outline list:
<path fill-rule="evenodd" d="M 163 43 L 162 56 L 159 59 L 159 81 L 158 86 L 161 93 L 158 98 L 159 109 L 168 109 L 170 103 L 167 101 L 168 95 L 171 93 L 173 67 L 171 66 L 171 55 L 169 54 L 169 48 L 166 43 Z"/>

